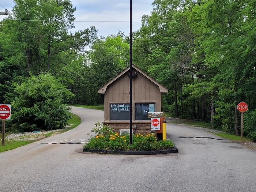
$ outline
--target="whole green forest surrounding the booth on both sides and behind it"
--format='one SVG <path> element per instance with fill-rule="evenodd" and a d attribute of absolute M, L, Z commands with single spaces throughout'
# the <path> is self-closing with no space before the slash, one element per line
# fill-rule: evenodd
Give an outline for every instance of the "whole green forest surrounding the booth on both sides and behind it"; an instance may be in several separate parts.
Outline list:
<path fill-rule="evenodd" d="M 69 33 L 68 0 L 15 0 L 0 22 L 0 103 L 12 104 L 12 131 L 67 124 L 69 105 L 98 105 L 97 90 L 129 65 L 129 37 Z M 162 111 L 240 131 L 256 140 L 256 0 L 155 0 L 133 32 L 133 64 L 169 93 Z M 18 19 L 18 20 L 17 20 Z M 22 19 L 22 20 L 19 20 Z M 37 20 L 37 21 L 35 21 Z"/>

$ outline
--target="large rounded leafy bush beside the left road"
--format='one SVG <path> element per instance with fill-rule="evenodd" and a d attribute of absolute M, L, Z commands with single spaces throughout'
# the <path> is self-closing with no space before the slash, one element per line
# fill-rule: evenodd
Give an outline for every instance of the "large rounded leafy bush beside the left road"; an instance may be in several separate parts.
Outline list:
<path fill-rule="evenodd" d="M 20 131 L 63 128 L 71 118 L 64 104 L 73 94 L 48 74 L 31 75 L 15 84 L 17 97 L 12 101 L 12 126 Z"/>

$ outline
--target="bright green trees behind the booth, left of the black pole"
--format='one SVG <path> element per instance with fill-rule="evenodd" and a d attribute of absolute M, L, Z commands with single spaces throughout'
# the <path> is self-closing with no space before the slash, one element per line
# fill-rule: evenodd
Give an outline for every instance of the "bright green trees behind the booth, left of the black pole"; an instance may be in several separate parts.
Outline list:
<path fill-rule="evenodd" d="M 104 102 L 97 90 L 128 66 L 129 44 L 123 34 L 98 38 L 84 58 L 85 65 L 80 68 L 72 92 L 76 98 L 74 104 L 97 105 Z"/>

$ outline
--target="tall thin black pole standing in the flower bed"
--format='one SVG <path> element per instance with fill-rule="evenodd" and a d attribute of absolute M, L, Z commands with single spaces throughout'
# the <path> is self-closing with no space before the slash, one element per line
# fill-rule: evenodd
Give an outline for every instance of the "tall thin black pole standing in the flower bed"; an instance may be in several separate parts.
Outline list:
<path fill-rule="evenodd" d="M 130 143 L 132 143 L 132 0 L 130 0 Z"/>

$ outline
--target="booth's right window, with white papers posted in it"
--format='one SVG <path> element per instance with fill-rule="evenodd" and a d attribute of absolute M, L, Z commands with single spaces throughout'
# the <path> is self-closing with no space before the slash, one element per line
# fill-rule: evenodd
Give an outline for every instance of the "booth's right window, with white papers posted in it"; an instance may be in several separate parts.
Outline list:
<path fill-rule="evenodd" d="M 150 120 L 148 112 L 155 112 L 155 103 L 135 103 L 135 120 Z"/>

